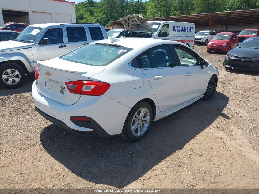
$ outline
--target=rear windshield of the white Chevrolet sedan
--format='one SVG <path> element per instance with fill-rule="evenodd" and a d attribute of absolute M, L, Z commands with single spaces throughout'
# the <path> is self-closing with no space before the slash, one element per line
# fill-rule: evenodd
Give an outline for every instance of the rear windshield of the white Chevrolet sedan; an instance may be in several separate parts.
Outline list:
<path fill-rule="evenodd" d="M 133 49 L 114 44 L 95 43 L 71 51 L 60 59 L 93 66 L 106 66 L 131 50 Z"/>

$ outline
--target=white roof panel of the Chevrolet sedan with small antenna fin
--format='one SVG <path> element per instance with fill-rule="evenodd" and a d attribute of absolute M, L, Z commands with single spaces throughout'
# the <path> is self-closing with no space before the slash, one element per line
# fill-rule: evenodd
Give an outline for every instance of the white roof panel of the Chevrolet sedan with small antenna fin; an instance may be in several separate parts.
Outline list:
<path fill-rule="evenodd" d="M 97 41 L 98 43 L 104 44 L 116 44 L 123 47 L 133 48 L 133 49 L 142 49 L 139 45 L 143 45 L 143 48 L 151 48 L 154 46 L 158 46 L 161 44 L 180 44 L 185 45 L 176 41 L 162 40 L 156 38 L 109 38 Z M 97 42 L 93 42 L 91 44 L 95 44 Z"/>

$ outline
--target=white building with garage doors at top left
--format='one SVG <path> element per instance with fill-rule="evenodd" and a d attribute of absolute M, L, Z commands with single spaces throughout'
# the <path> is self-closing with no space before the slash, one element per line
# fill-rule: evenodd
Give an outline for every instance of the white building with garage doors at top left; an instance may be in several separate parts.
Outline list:
<path fill-rule="evenodd" d="M 75 3 L 63 0 L 0 0 L 0 25 L 8 22 L 75 23 Z"/>

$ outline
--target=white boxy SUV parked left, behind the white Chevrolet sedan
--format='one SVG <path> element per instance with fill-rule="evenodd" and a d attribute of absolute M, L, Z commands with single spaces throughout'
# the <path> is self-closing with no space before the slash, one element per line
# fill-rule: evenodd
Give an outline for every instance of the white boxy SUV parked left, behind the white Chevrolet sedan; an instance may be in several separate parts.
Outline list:
<path fill-rule="evenodd" d="M 18 88 L 37 61 L 53 59 L 90 42 L 107 38 L 100 24 L 34 24 L 15 41 L 0 42 L 0 86 Z"/>

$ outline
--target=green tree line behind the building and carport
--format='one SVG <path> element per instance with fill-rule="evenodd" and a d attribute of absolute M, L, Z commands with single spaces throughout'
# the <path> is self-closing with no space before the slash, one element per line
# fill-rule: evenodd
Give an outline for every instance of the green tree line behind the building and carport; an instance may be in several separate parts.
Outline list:
<path fill-rule="evenodd" d="M 259 0 L 87 0 L 75 6 L 78 23 L 105 26 L 131 14 L 148 18 L 254 8 L 259 8 Z"/>

